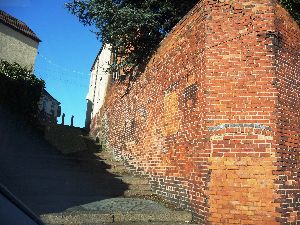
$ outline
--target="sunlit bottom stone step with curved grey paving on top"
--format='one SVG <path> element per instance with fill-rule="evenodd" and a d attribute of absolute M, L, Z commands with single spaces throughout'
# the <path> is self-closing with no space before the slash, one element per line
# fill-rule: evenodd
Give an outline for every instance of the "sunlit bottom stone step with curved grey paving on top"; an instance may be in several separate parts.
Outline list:
<path fill-rule="evenodd" d="M 168 209 L 160 203 L 137 198 L 111 198 L 68 209 L 63 213 L 42 215 L 48 225 L 82 225 L 105 223 L 185 223 L 192 221 L 192 214 Z"/>

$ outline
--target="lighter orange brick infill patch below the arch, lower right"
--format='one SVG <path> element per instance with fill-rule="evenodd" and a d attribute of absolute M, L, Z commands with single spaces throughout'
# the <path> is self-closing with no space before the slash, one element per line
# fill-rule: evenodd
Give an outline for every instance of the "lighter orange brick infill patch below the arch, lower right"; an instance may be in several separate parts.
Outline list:
<path fill-rule="evenodd" d="M 211 157 L 209 161 L 212 173 L 207 194 L 212 224 L 277 224 L 275 158 Z"/>

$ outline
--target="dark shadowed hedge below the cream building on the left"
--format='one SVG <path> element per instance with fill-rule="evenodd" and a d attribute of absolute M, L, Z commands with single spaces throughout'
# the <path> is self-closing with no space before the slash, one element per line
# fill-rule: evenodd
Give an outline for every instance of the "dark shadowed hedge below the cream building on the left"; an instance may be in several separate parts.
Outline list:
<path fill-rule="evenodd" d="M 45 82 L 17 63 L 0 61 L 0 105 L 19 118 L 36 124 L 38 101 Z"/>

